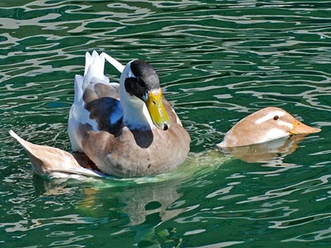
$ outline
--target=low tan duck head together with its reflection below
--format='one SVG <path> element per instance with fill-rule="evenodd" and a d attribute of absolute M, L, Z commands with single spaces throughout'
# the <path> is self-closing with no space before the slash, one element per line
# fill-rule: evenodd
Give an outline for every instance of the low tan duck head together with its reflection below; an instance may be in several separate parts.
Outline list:
<path fill-rule="evenodd" d="M 291 154 L 306 135 L 319 131 L 279 107 L 265 107 L 235 124 L 217 146 L 245 162 L 271 162 Z"/>

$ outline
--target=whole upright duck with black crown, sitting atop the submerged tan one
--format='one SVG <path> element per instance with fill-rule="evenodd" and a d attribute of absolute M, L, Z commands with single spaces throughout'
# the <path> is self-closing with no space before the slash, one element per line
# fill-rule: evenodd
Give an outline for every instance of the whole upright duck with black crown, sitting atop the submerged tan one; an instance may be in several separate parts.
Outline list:
<path fill-rule="evenodd" d="M 191 140 L 163 97 L 154 67 L 143 60 L 123 66 L 96 51 L 85 58 L 68 120 L 73 151 L 121 177 L 161 174 L 182 164 Z M 121 72 L 119 84 L 104 75 L 105 59 Z"/>

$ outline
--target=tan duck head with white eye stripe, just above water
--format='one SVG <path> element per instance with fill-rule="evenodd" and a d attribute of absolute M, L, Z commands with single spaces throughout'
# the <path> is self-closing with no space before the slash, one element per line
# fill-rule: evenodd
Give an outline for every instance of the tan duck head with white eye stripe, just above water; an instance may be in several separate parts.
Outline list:
<path fill-rule="evenodd" d="M 293 134 L 317 133 L 279 107 L 265 107 L 239 121 L 225 134 L 218 148 L 232 148 L 272 141 Z"/>

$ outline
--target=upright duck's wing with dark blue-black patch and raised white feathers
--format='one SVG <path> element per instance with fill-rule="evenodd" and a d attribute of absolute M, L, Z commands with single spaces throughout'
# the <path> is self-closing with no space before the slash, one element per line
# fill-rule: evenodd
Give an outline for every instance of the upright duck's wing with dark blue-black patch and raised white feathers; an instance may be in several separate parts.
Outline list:
<path fill-rule="evenodd" d="M 120 133 L 123 110 L 118 96 L 119 84 L 109 83 L 104 75 L 103 55 L 86 53 L 84 76 L 75 76 L 75 98 L 70 108 L 68 134 L 74 151 L 82 152 L 80 125 L 88 124 L 94 131 Z"/>

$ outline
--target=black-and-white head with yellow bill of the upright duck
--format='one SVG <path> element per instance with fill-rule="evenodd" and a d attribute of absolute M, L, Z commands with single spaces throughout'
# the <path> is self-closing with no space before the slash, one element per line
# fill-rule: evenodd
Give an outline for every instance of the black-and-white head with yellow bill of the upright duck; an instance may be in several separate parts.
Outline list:
<path fill-rule="evenodd" d="M 120 103 L 123 122 L 130 129 L 169 129 L 158 74 L 149 63 L 132 60 L 125 65 L 120 76 Z"/>

